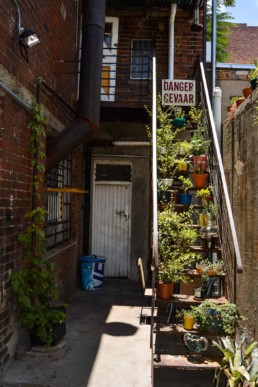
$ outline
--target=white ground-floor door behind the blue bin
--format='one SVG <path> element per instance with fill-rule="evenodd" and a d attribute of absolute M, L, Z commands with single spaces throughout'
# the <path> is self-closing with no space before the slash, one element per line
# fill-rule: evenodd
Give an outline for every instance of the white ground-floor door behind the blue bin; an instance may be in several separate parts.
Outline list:
<path fill-rule="evenodd" d="M 130 232 L 131 182 L 94 181 L 91 250 L 106 257 L 105 277 L 129 276 Z"/>

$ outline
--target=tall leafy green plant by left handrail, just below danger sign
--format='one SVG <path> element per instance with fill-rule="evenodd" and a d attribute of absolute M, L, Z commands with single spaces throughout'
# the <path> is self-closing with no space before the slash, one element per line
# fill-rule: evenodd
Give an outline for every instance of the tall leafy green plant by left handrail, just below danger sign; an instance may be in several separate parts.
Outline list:
<path fill-rule="evenodd" d="M 152 112 L 145 107 L 149 116 Z M 162 105 L 161 95 L 157 96 L 157 173 L 158 177 L 171 178 L 175 172 L 175 160 L 177 158 L 179 143 L 175 137 L 181 129 L 172 130 L 173 107 Z M 152 131 L 146 127 L 147 135 L 151 139 Z"/>

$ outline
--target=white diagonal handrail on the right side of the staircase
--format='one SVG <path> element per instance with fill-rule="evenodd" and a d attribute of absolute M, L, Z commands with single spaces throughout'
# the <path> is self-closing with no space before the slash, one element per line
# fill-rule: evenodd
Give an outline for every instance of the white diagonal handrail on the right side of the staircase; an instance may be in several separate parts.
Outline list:
<path fill-rule="evenodd" d="M 230 198 L 229 198 L 229 193 L 228 193 L 228 188 L 227 188 L 227 183 L 226 183 L 226 178 L 225 178 L 225 173 L 224 173 L 224 169 L 223 169 L 222 158 L 221 158 L 221 154 L 220 154 L 220 148 L 219 148 L 219 143 L 218 143 L 218 138 L 217 138 L 215 122 L 214 122 L 211 103 L 210 103 L 210 99 L 209 99 L 209 92 L 208 92 L 203 63 L 200 63 L 200 70 L 201 70 L 201 79 L 202 79 L 202 84 L 203 84 L 203 89 L 204 89 L 203 91 L 204 91 L 205 102 L 206 102 L 206 106 L 208 109 L 208 116 L 209 116 L 212 139 L 213 139 L 213 146 L 214 146 L 215 156 L 217 159 L 217 165 L 219 168 L 220 178 L 221 178 L 221 182 L 222 182 L 222 191 L 223 191 L 223 195 L 224 195 L 225 202 L 226 202 L 226 211 L 228 214 L 230 231 L 231 231 L 231 235 L 232 235 L 232 239 L 233 239 L 233 246 L 234 246 L 235 260 L 236 260 L 236 269 L 237 269 L 238 273 L 242 273 L 243 272 L 243 265 L 242 265 L 242 260 L 241 260 L 241 254 L 240 254 L 240 249 L 239 249 L 239 244 L 238 244 L 238 239 L 237 239 L 237 234 L 236 234 L 235 223 L 234 223 L 234 219 L 233 219 L 233 213 L 232 213 L 232 208 L 231 208 L 231 203 L 230 203 Z"/>

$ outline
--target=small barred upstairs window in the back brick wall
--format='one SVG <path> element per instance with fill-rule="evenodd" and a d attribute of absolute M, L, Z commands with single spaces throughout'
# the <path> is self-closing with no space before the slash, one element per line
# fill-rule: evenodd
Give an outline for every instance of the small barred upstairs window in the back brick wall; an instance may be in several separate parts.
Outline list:
<path fill-rule="evenodd" d="M 132 40 L 131 79 L 152 78 L 152 40 Z"/>

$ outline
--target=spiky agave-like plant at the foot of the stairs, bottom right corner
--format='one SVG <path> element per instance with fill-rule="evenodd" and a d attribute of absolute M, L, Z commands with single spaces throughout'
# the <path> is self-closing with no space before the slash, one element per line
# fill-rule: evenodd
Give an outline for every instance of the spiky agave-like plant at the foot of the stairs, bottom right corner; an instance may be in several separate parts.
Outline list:
<path fill-rule="evenodd" d="M 235 340 L 224 337 L 213 340 L 213 345 L 223 354 L 220 368 L 215 372 L 216 387 L 219 386 L 221 372 L 227 377 L 229 387 L 255 387 L 258 384 L 258 348 L 257 342 L 248 347 L 245 337 L 237 336 Z"/>

